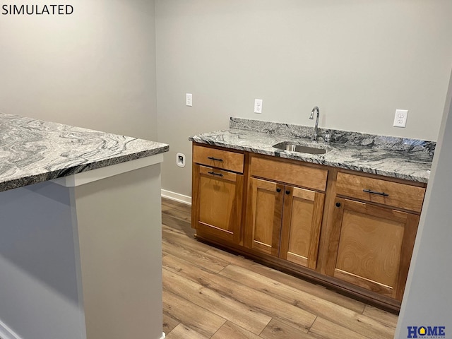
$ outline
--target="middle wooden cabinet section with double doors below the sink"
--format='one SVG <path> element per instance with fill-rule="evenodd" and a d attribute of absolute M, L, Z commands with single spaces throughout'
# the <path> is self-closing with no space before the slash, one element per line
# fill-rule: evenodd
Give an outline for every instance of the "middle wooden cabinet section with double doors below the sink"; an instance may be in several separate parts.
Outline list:
<path fill-rule="evenodd" d="M 325 169 L 251 157 L 245 246 L 315 269 L 325 194 L 294 184 L 325 189 L 327 174 Z"/>

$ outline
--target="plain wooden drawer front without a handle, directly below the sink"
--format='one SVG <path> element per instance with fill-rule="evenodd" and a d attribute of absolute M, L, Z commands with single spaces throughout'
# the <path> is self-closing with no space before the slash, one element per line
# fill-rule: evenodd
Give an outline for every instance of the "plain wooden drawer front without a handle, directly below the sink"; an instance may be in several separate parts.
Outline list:
<path fill-rule="evenodd" d="M 328 169 L 298 165 L 281 160 L 252 157 L 251 176 L 325 191 Z"/>

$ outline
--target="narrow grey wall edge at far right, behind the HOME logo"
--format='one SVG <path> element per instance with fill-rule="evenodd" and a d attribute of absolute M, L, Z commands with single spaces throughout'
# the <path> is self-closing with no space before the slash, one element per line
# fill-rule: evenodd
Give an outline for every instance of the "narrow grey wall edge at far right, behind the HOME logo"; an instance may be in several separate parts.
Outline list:
<path fill-rule="evenodd" d="M 408 326 L 446 326 L 452 335 L 451 131 L 452 75 L 395 338 L 412 338 Z"/>

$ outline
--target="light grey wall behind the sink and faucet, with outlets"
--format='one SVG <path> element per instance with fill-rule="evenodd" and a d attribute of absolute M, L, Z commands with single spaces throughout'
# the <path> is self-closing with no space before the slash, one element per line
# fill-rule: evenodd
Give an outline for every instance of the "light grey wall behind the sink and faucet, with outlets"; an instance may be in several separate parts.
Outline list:
<path fill-rule="evenodd" d="M 191 196 L 190 135 L 230 116 L 436 140 L 452 66 L 450 0 L 157 0 L 162 186 Z M 193 107 L 185 106 L 193 93 Z M 254 114 L 254 99 L 263 114 Z M 409 109 L 406 129 L 392 126 Z"/>

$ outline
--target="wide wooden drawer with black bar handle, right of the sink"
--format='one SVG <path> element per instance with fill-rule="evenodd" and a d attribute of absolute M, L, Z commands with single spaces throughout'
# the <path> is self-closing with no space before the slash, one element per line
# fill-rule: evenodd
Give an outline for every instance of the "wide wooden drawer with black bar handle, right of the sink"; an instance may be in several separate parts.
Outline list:
<path fill-rule="evenodd" d="M 409 184 L 339 172 L 336 194 L 420 212 L 425 189 Z"/>

